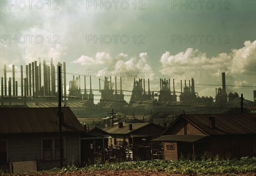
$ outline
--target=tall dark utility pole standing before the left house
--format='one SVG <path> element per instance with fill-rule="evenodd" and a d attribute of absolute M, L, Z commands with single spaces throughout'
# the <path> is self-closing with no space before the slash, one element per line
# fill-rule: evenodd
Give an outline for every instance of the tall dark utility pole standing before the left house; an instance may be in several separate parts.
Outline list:
<path fill-rule="evenodd" d="M 60 166 L 63 167 L 63 144 L 62 144 L 62 111 L 61 111 L 61 66 L 58 66 L 58 116 L 59 116 L 59 146 Z"/>

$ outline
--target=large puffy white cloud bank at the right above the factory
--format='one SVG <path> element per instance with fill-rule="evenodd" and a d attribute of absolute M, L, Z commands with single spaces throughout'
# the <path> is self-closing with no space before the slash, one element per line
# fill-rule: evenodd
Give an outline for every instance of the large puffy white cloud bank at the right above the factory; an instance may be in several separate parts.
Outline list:
<path fill-rule="evenodd" d="M 161 56 L 160 63 L 160 73 L 175 78 L 175 82 L 178 81 L 177 79 L 193 77 L 198 83 L 209 85 L 217 83 L 219 86 L 215 87 L 221 87 L 221 72 L 226 70 L 227 85 L 255 85 L 256 40 L 254 42 L 245 41 L 243 48 L 232 49 L 230 53 L 221 53 L 210 58 L 206 56 L 206 53 L 201 53 L 198 49 L 193 48 L 187 48 L 186 51 L 175 55 L 166 51 Z M 196 77 L 194 77 L 195 71 Z M 209 71 L 208 74 L 207 71 Z M 214 75 L 212 75 L 212 71 Z M 248 75 L 247 80 L 244 80 L 244 74 Z M 212 92 L 215 89 L 206 86 L 196 87 L 201 95 L 213 95 Z M 241 87 L 227 87 L 227 92 L 238 89 L 244 91 Z"/>

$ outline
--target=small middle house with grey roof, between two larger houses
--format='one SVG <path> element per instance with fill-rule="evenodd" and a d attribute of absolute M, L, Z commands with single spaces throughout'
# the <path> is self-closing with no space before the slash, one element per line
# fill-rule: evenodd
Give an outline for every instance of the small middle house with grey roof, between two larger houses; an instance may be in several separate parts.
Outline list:
<path fill-rule="evenodd" d="M 119 122 L 110 128 L 103 129 L 111 134 L 109 146 L 111 148 L 124 149 L 126 154 L 120 154 L 119 157 L 126 159 L 151 159 L 150 141 L 157 138 L 165 130 L 164 127 L 154 123 L 122 123 Z"/>

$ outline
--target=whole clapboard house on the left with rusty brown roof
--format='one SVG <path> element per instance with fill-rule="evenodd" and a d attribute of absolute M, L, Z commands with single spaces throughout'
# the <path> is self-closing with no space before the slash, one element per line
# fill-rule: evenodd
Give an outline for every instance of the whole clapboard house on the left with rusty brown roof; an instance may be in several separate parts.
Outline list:
<path fill-rule="evenodd" d="M 80 165 L 81 150 L 90 145 L 81 145 L 81 137 L 97 136 L 85 132 L 69 107 L 62 111 L 63 166 Z M 33 170 L 60 167 L 59 150 L 58 108 L 0 108 L 0 169 L 19 170 L 24 162 Z"/>

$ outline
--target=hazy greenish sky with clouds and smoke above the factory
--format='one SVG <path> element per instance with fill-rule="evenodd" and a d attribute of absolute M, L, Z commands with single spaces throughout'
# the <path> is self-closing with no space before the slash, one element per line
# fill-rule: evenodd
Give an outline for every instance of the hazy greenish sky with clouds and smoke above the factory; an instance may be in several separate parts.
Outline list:
<path fill-rule="evenodd" d="M 0 0 L 0 35 L 1 77 L 4 64 L 45 57 L 66 62 L 67 81 L 91 75 L 95 89 L 110 74 L 129 91 L 134 78 L 155 91 L 160 78 L 176 91 L 194 78 L 199 96 L 215 97 L 226 72 L 227 93 L 253 100 L 256 90 L 255 0 Z"/>

